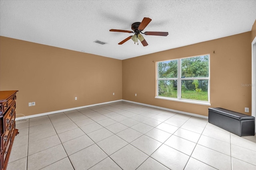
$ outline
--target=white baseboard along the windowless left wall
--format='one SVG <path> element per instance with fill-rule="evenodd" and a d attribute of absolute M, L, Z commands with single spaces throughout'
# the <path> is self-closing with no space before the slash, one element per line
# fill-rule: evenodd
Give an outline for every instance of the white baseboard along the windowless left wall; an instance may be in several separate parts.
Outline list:
<path fill-rule="evenodd" d="M 111 102 L 104 102 L 104 103 L 98 103 L 98 104 L 91 104 L 91 105 L 87 105 L 87 106 L 73 107 L 73 108 L 70 108 L 70 109 L 63 109 L 63 110 L 50 111 L 50 112 L 40 113 L 40 114 L 36 114 L 36 115 L 29 115 L 29 116 L 23 116 L 23 117 L 16 117 L 15 121 L 22 120 L 22 119 L 29 119 L 29 118 L 33 118 L 33 117 L 44 116 L 44 115 L 50 115 L 50 114 L 54 114 L 54 113 L 60 113 L 60 112 L 64 112 L 64 111 L 82 109 L 82 108 L 85 108 L 85 107 L 98 106 L 98 105 L 102 105 L 102 104 L 110 104 L 110 103 L 120 102 L 120 101 L 122 101 L 122 100 L 115 100 L 115 101 L 111 101 Z"/>

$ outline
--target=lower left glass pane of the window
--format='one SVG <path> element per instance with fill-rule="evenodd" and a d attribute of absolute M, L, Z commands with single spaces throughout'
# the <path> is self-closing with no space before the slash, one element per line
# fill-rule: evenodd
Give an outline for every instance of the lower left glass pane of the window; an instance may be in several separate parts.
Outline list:
<path fill-rule="evenodd" d="M 158 80 L 158 96 L 177 98 L 177 80 Z"/>

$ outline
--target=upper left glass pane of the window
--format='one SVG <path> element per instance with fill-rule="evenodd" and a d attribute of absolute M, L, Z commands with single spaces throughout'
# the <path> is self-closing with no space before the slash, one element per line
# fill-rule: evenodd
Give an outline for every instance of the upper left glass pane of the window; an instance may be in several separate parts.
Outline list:
<path fill-rule="evenodd" d="M 158 63 L 158 78 L 177 78 L 178 60 Z"/>

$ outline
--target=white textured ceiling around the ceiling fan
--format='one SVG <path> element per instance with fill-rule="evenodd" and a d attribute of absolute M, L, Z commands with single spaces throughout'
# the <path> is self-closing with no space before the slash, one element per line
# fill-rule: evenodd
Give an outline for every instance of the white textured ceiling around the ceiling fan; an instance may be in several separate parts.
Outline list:
<path fill-rule="evenodd" d="M 144 17 L 144 31 L 169 35 L 118 45 L 133 34 L 109 29 Z M 256 0 L 0 0 L 1 36 L 121 60 L 251 31 L 255 20 Z"/>

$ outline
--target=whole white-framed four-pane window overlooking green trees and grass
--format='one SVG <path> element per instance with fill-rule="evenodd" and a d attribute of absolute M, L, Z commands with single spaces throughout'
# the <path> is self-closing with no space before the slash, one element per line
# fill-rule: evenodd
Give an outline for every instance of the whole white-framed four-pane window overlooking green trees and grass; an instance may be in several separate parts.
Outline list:
<path fill-rule="evenodd" d="M 157 62 L 156 98 L 209 104 L 210 55 Z"/>

